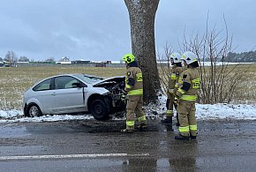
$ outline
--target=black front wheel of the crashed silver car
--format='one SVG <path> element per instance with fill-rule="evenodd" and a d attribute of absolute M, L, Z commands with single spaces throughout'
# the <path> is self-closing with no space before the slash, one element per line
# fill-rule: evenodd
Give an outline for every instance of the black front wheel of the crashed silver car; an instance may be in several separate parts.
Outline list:
<path fill-rule="evenodd" d="M 97 120 L 107 119 L 109 116 L 106 103 L 102 100 L 94 100 L 91 105 L 91 113 Z"/>

